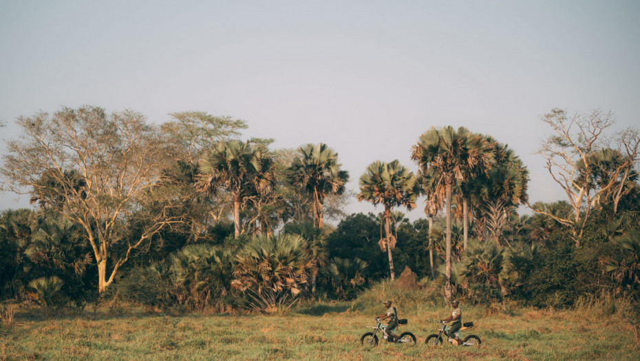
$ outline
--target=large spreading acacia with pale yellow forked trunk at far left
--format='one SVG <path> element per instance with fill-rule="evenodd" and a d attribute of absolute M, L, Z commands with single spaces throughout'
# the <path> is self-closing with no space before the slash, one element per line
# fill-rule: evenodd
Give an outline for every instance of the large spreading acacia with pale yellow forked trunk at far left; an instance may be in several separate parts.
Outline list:
<path fill-rule="evenodd" d="M 21 117 L 18 124 L 23 134 L 8 142 L 2 174 L 11 190 L 29 188 L 34 199 L 56 205 L 62 217 L 81 226 L 100 293 L 132 251 L 181 221 L 171 215 L 170 193 L 159 186 L 167 158 L 158 131 L 140 113 L 65 107 L 52 116 Z M 155 212 L 145 212 L 151 204 Z M 122 232 L 129 221 L 141 225 L 135 236 Z"/>

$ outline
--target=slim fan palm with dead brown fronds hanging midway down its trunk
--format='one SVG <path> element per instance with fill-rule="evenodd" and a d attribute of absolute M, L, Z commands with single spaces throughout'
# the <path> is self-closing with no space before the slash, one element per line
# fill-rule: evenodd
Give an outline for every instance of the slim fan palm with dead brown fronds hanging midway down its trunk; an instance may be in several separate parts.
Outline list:
<path fill-rule="evenodd" d="M 392 281 L 396 278 L 391 254 L 396 243 L 391 232 L 392 209 L 399 206 L 405 206 L 407 210 L 416 208 L 416 197 L 419 192 L 416 177 L 398 160 L 390 163 L 377 160 L 367 166 L 367 171 L 360 177 L 358 200 L 370 201 L 374 206 L 382 204 L 385 207 L 383 214 L 385 238 L 381 239 L 381 244 L 384 245 L 389 256 Z"/>

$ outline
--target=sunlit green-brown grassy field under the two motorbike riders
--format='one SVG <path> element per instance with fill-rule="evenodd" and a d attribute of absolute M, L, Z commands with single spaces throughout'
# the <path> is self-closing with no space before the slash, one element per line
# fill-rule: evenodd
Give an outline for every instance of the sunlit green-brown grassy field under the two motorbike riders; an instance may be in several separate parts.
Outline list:
<path fill-rule="evenodd" d="M 373 314 L 354 303 L 300 306 L 284 316 L 144 311 L 19 311 L 0 328 L 0 360 L 639 360 L 631 327 L 595 309 L 491 311 L 463 308 L 478 349 L 427 347 L 444 307 L 398 304 L 418 343 L 359 344 Z M 406 309 L 406 310 L 405 310 Z M 373 311 L 367 309 L 367 311 Z M 380 305 L 378 313 L 382 313 Z M 624 337 L 621 338 L 620 335 Z"/>

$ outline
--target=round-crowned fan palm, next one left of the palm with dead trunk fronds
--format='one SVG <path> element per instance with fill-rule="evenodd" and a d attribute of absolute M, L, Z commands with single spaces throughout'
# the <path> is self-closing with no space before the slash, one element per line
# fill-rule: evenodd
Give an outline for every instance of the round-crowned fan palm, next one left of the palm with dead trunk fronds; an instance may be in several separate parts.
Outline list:
<path fill-rule="evenodd" d="M 324 200 L 327 195 L 344 193 L 349 173 L 341 171 L 338 153 L 327 144 L 306 144 L 298 153 L 288 168 L 288 178 L 310 195 L 314 226 L 322 228 Z"/>

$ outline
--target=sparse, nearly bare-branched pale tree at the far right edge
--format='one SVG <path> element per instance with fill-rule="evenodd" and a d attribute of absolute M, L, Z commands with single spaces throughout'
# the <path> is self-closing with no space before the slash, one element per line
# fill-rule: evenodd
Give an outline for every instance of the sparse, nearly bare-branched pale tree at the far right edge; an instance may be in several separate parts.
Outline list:
<path fill-rule="evenodd" d="M 573 116 L 562 109 L 552 109 L 542 116 L 542 121 L 554 133 L 544 140 L 538 153 L 546 158 L 547 171 L 566 193 L 573 215 L 558 217 L 532 209 L 570 227 L 573 241 L 579 246 L 593 207 L 605 195 L 612 195 L 615 204 L 624 195 L 627 181 L 634 175 L 640 135 L 635 129 L 625 129 L 609 138 L 606 131 L 615 124 L 615 118 L 610 111 L 599 109 Z M 621 157 L 610 166 L 596 166 L 595 158 L 603 149 L 618 151 Z"/>

